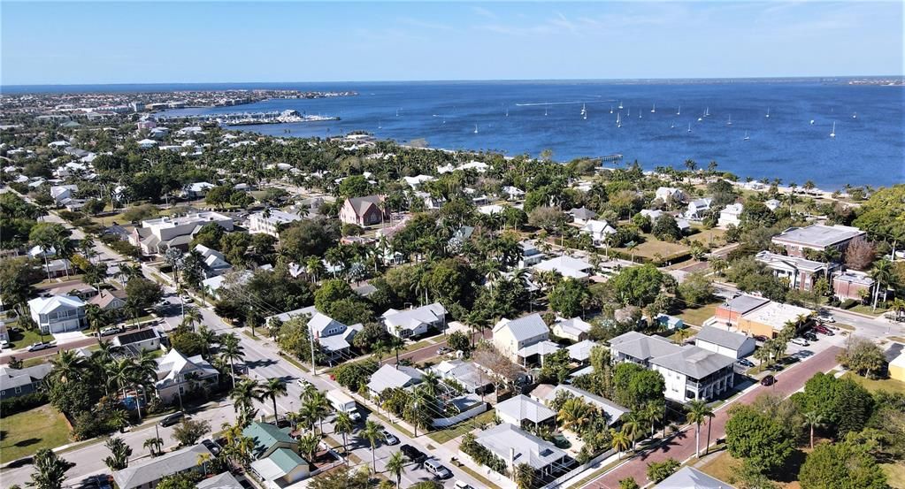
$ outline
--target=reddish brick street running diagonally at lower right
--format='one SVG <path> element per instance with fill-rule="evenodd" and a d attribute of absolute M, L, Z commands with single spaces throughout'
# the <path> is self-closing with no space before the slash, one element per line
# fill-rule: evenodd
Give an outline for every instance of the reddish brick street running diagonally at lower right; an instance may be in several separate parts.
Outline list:
<path fill-rule="evenodd" d="M 729 404 L 722 405 L 717 411 L 716 416 L 711 421 L 713 423 L 711 439 L 715 440 L 724 437 L 726 434 L 726 421 L 729 418 L 729 406 L 742 403 L 748 404 L 757 399 L 764 393 L 772 393 L 780 396 L 789 396 L 800 390 L 805 385 L 805 381 L 810 379 L 814 373 L 818 371 L 830 371 L 837 364 L 836 354 L 840 352 L 840 348 L 831 347 L 822 353 L 817 353 L 813 357 L 800 362 L 786 371 L 776 375 L 777 382 L 770 386 L 764 387 L 757 385 L 752 390 L 743 394 L 738 400 Z M 702 440 L 700 442 L 701 450 L 707 443 L 706 426 L 701 427 Z M 618 489 L 619 481 L 632 477 L 639 485 L 647 484 L 647 464 L 651 462 L 662 462 L 667 458 L 675 458 L 679 461 L 694 456 L 695 452 L 695 429 L 692 427 L 683 429 L 678 435 L 672 438 L 670 442 L 661 447 L 656 447 L 644 451 L 637 456 L 633 456 L 605 475 L 601 475 L 594 481 L 586 484 L 584 487 L 600 488 L 600 489 Z"/>

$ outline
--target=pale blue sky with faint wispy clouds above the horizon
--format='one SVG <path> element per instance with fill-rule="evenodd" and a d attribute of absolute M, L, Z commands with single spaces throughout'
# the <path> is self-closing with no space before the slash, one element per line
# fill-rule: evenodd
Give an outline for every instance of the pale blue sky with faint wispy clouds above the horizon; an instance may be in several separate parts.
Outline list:
<path fill-rule="evenodd" d="M 901 2 L 4 1 L 0 83 L 902 74 Z"/>

